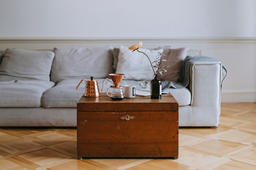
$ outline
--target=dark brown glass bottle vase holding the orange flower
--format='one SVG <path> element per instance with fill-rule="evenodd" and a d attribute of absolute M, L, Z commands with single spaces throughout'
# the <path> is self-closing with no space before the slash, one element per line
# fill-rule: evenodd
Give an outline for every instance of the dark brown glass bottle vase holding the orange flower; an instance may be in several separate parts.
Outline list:
<path fill-rule="evenodd" d="M 150 91 L 151 99 L 161 99 L 162 83 L 161 80 L 157 78 L 157 74 L 155 74 L 154 79 L 150 81 Z"/>

